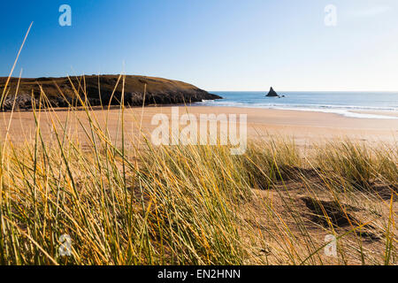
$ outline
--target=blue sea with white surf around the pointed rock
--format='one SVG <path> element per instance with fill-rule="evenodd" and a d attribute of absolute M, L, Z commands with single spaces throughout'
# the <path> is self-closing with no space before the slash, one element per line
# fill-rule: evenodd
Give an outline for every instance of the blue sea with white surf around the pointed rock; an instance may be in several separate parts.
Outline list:
<path fill-rule="evenodd" d="M 398 119 L 398 92 L 280 91 L 266 97 L 268 91 L 210 91 L 223 99 L 195 103 L 203 106 L 251 107 L 264 109 L 320 111 L 357 119 Z M 395 117 L 394 117 L 395 116 Z"/>

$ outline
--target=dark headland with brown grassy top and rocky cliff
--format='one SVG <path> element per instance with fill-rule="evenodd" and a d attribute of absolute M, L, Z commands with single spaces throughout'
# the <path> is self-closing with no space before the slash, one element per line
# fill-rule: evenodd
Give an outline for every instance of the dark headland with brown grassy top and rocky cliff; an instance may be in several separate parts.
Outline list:
<path fill-rule="evenodd" d="M 96 75 L 76 78 L 38 78 L 21 79 L 19 91 L 16 97 L 15 109 L 32 108 L 31 96 L 34 94 L 35 103 L 41 96 L 41 88 L 49 98 L 53 107 L 67 107 L 69 103 L 79 106 L 77 96 L 73 87 L 79 91 L 84 100 L 83 89 L 86 89 L 88 102 L 96 105 L 117 105 L 122 98 L 123 79 L 118 83 L 119 75 Z M 0 96 L 3 94 L 7 78 L 0 78 Z M 14 94 L 18 84 L 17 78 L 12 78 L 8 84 L 8 96 L 5 97 L 1 111 L 8 111 L 12 108 Z M 196 88 L 188 83 L 178 80 L 166 80 L 161 78 L 144 76 L 126 76 L 124 103 L 130 106 L 140 106 L 143 103 L 143 93 L 146 85 L 145 104 L 174 104 L 174 103 L 195 103 L 203 100 L 214 100 L 222 97 L 212 95 L 207 91 Z M 112 95 L 115 90 L 114 95 Z M 63 94 L 63 95 L 62 95 Z M 63 97 L 65 96 L 65 98 Z"/>

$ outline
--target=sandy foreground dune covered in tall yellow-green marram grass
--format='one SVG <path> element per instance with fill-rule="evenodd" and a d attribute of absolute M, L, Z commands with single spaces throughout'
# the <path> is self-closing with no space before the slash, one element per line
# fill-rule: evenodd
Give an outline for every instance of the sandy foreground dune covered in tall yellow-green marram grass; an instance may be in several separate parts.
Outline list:
<path fill-rule="evenodd" d="M 396 144 L 308 152 L 269 137 L 242 156 L 155 148 L 143 134 L 126 139 L 124 105 L 111 136 L 79 88 L 83 106 L 67 111 L 84 111 L 84 141 L 41 110 L 44 94 L 33 136 L 2 139 L 0 264 L 397 264 Z M 49 141 L 39 118 L 51 113 Z M 72 256 L 59 254 L 63 234 Z M 325 256 L 327 234 L 335 257 Z"/>

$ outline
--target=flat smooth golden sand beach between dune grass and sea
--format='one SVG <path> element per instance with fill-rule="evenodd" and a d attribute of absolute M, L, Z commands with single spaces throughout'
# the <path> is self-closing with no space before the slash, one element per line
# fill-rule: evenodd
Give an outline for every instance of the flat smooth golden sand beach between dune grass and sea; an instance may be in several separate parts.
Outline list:
<path fill-rule="evenodd" d="M 126 108 L 124 113 L 125 133 L 127 136 L 137 135 L 140 125 L 142 125 L 142 132 L 148 134 L 156 127 L 151 125 L 151 119 L 154 115 L 163 113 L 170 117 L 171 112 L 172 106 L 149 106 L 143 110 L 141 107 Z M 356 119 L 334 113 L 315 111 L 204 106 L 179 107 L 179 112 L 180 115 L 188 112 L 194 114 L 197 118 L 200 114 L 247 114 L 249 139 L 262 139 L 267 138 L 270 134 L 280 134 L 293 137 L 298 144 L 325 142 L 345 137 L 367 142 L 396 142 L 398 134 L 398 119 Z M 120 133 L 119 109 L 111 109 L 109 112 L 96 109 L 92 113 L 101 126 L 108 125 L 111 136 L 116 137 Z M 394 112 L 384 112 L 383 114 L 396 116 Z M 12 116 L 11 112 L 4 112 L 0 115 L 2 136 L 10 125 L 10 136 L 13 142 L 24 142 L 34 137 L 34 115 L 32 111 L 14 112 Z M 53 133 L 51 120 L 58 120 L 62 125 L 66 125 L 67 121 L 69 136 L 78 134 L 80 137 L 84 137 L 85 130 L 82 126 L 88 126 L 85 111 L 42 111 L 38 118 L 44 136 Z M 107 119 L 108 122 L 106 122 Z M 59 122 L 55 124 L 59 125 Z"/>

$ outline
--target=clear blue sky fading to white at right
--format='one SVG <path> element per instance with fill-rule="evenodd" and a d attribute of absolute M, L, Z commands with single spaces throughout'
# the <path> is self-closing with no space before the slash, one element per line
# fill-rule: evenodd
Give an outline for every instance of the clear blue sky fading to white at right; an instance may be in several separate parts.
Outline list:
<path fill-rule="evenodd" d="M 59 25 L 62 4 L 72 9 L 70 27 Z M 396 0 L 2 1 L 0 76 L 32 21 L 14 76 L 126 73 L 210 91 L 398 90 Z"/>

